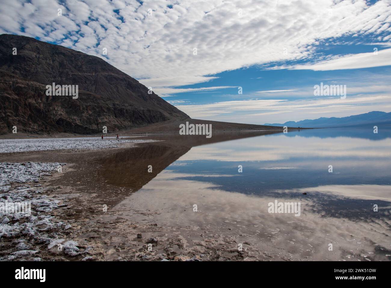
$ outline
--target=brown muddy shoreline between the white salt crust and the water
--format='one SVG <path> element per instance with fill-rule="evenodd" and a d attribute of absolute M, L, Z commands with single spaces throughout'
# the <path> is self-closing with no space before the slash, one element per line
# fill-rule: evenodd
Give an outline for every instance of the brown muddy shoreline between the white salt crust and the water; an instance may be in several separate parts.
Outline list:
<path fill-rule="evenodd" d="M 145 145 L 145 144 L 138 144 Z M 50 241 L 37 240 L 32 235 L 2 237 L 0 257 L 2 260 L 33 261 L 93 261 L 93 260 L 178 260 L 199 261 L 218 259 L 244 259 L 243 253 L 235 253 L 235 245 L 224 253 L 235 256 L 221 256 L 222 248 L 206 248 L 204 235 L 198 235 L 200 245 L 187 249 L 188 239 L 178 235 L 178 231 L 195 232 L 194 227 L 163 227 L 154 221 L 152 216 L 160 212 L 138 208 L 124 209 L 118 203 L 124 196 L 132 195 L 136 187 L 113 188 L 106 181 L 91 181 L 94 159 L 109 158 L 114 152 L 131 153 L 135 147 L 121 147 L 106 150 L 39 151 L 2 154 L 1 161 L 51 162 L 63 159 L 67 164 L 62 172 L 54 172 L 52 176 L 44 176 L 39 180 L 42 192 L 48 199 L 56 199 L 61 205 L 50 211 L 48 216 L 54 217 L 56 223 L 64 223 L 52 228 L 48 234 Z M 86 164 L 87 163 L 87 164 Z M 92 169 L 91 169 L 92 168 Z M 154 173 L 155 174 L 155 173 Z M 76 176 L 77 175 L 77 176 Z M 30 186 L 37 183 L 13 184 L 13 187 Z M 134 185 L 132 185 L 134 186 Z M 98 192 L 99 190 L 99 192 Z M 103 194 L 109 196 L 102 197 Z M 107 211 L 106 208 L 107 207 Z M 190 208 L 189 208 L 190 209 Z M 195 229 L 198 230 L 198 229 Z M 205 233 L 207 231 L 204 231 Z M 196 232 L 198 234 L 198 232 Z M 141 234 L 141 235 L 140 235 Z M 223 243 L 221 237 L 213 236 Z M 29 251 L 20 257 L 7 257 L 18 253 L 16 242 L 25 243 L 23 248 Z M 231 241 L 230 241 L 231 242 Z M 69 246 L 71 243 L 71 247 Z M 64 245 L 59 250 L 59 245 Z M 68 246 L 66 246 L 68 245 Z M 68 250 L 66 248 L 68 247 Z M 73 249 L 73 250 L 72 250 Z M 24 249 L 25 250 L 25 249 Z M 72 252 L 72 253 L 70 253 Z M 164 261 L 164 260 L 163 260 Z"/>

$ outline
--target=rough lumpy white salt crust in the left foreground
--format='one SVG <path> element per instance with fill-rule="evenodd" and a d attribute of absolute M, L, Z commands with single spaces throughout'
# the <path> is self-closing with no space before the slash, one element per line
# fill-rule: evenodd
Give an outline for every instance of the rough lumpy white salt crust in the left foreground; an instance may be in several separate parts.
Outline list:
<path fill-rule="evenodd" d="M 0 163 L 0 202 L 30 202 L 31 213 L 10 213 L 0 211 L 0 239 L 9 239 L 13 243 L 13 252 L 0 257 L 2 260 L 40 260 L 34 256 L 38 250 L 32 249 L 37 243 L 53 243 L 56 229 L 65 228 L 68 223 L 57 221 L 47 215 L 62 205 L 60 201 L 45 195 L 41 185 L 34 185 L 44 176 L 50 176 L 57 167 L 65 163 Z M 18 185 L 16 183 L 24 183 Z M 50 235 L 50 236 L 49 236 Z M 69 241 L 68 241 L 69 242 Z M 56 242 L 54 242 L 56 243 Z M 0 244 L 1 248 L 2 244 Z M 68 247 L 69 246 L 69 247 Z M 68 255 L 77 255 L 77 247 L 68 243 Z M 16 250 L 16 251 L 14 251 Z"/>

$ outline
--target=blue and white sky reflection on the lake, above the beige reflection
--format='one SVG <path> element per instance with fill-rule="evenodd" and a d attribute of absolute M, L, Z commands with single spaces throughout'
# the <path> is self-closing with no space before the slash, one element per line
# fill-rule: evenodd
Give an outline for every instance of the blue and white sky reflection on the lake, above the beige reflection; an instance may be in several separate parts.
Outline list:
<path fill-rule="evenodd" d="M 171 180 L 212 183 L 211 189 L 229 192 L 285 199 L 307 193 L 335 216 L 353 217 L 370 209 L 371 200 L 389 206 L 390 148 L 386 129 L 301 130 L 192 147 L 165 170 L 174 172 Z"/>

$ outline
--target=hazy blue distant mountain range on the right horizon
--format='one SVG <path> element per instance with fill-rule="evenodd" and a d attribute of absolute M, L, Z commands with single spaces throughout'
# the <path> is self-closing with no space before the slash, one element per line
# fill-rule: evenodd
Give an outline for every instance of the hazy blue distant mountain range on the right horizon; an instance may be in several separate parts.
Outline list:
<path fill-rule="evenodd" d="M 372 111 L 364 114 L 353 115 L 342 118 L 326 118 L 321 117 L 315 120 L 301 120 L 298 122 L 288 121 L 280 123 L 265 123 L 271 126 L 287 126 L 287 127 L 306 127 L 306 128 L 332 128 L 332 127 L 353 127 L 363 125 L 391 125 L 391 112 Z"/>

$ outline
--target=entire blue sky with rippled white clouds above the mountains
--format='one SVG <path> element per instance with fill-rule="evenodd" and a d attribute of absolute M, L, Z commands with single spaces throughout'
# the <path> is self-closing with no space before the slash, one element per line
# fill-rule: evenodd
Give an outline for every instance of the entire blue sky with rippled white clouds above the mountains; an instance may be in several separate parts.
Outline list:
<path fill-rule="evenodd" d="M 5 0 L 0 15 L 0 33 L 101 57 L 192 118 L 391 111 L 390 0 Z M 346 99 L 314 96 L 321 82 Z"/>

